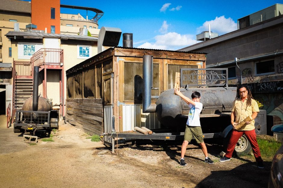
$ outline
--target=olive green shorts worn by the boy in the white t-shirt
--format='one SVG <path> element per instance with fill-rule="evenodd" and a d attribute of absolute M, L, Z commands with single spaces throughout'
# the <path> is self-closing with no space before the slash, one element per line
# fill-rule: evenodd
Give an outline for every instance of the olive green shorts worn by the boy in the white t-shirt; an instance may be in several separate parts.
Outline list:
<path fill-rule="evenodd" d="M 191 142 L 191 139 L 195 139 L 197 143 L 204 142 L 201 127 L 193 127 L 186 125 L 184 140 Z"/>

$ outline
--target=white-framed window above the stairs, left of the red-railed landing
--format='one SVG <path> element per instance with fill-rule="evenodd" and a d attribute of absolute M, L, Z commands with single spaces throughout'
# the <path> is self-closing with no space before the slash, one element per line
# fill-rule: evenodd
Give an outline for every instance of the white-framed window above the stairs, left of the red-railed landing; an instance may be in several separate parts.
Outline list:
<path fill-rule="evenodd" d="M 30 59 L 41 48 L 42 43 L 18 43 L 18 59 Z"/>

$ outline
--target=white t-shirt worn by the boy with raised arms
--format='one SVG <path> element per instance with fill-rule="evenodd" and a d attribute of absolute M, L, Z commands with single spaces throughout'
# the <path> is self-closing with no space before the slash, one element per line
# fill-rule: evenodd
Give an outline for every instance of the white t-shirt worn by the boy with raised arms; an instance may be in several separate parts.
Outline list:
<path fill-rule="evenodd" d="M 194 127 L 201 127 L 200 114 L 202 110 L 202 103 L 195 102 L 195 106 L 189 104 L 189 107 L 191 108 L 191 110 L 188 115 L 187 125 Z"/>

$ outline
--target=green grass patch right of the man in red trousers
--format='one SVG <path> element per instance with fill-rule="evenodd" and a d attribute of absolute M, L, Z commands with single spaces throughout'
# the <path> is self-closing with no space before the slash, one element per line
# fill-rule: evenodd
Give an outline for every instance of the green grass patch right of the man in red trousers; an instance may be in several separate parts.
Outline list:
<path fill-rule="evenodd" d="M 271 159 L 274 157 L 276 151 L 280 148 L 281 143 L 275 139 L 261 139 L 257 138 L 258 145 L 260 147 L 261 156 L 265 159 Z"/>

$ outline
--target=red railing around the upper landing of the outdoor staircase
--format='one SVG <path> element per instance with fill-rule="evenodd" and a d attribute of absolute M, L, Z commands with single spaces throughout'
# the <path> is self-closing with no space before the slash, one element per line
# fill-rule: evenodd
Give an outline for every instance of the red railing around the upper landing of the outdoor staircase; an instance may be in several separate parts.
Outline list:
<path fill-rule="evenodd" d="M 30 58 L 33 66 L 63 65 L 63 49 L 41 48 Z"/>

